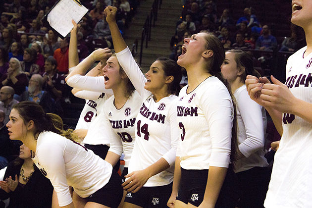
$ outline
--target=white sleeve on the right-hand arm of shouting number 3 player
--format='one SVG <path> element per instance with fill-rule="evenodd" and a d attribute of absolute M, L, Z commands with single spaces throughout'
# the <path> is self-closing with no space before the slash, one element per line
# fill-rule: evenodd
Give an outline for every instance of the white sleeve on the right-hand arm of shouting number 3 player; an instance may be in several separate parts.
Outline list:
<path fill-rule="evenodd" d="M 231 155 L 233 105 L 227 90 L 211 89 L 201 105 L 208 122 L 212 144 L 209 166 L 228 167 Z"/>

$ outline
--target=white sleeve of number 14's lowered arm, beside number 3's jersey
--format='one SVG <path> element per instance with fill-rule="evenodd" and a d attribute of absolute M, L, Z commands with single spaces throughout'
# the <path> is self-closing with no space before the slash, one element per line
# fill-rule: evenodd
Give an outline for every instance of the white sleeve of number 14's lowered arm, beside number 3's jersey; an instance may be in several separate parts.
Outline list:
<path fill-rule="evenodd" d="M 179 140 L 179 127 L 177 121 L 177 103 L 176 101 L 173 102 L 174 104 L 171 105 L 171 108 L 168 112 L 168 118 L 170 120 L 170 138 L 171 138 L 171 149 L 164 154 L 162 157 L 169 163 L 170 167 L 175 162 L 178 140 Z"/>

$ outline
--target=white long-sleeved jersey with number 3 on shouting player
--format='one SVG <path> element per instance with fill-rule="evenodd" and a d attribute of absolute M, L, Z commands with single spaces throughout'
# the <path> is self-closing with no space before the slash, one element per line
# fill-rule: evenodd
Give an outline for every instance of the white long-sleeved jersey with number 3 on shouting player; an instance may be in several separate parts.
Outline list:
<path fill-rule="evenodd" d="M 225 85 L 208 77 L 192 92 L 183 87 L 177 104 L 181 130 L 177 156 L 184 169 L 228 167 L 231 155 L 233 104 Z"/>

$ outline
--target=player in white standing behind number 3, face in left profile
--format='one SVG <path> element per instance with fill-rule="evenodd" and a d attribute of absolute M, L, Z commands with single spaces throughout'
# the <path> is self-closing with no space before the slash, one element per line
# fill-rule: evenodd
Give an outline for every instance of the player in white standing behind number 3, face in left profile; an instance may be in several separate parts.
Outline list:
<path fill-rule="evenodd" d="M 238 178 L 239 208 L 263 208 L 270 169 L 264 157 L 266 113 L 264 107 L 248 96 L 247 75 L 260 77 L 254 69 L 253 58 L 241 50 L 225 52 L 221 65 L 223 77 L 229 82 L 236 99 L 238 150 L 234 172 Z"/>

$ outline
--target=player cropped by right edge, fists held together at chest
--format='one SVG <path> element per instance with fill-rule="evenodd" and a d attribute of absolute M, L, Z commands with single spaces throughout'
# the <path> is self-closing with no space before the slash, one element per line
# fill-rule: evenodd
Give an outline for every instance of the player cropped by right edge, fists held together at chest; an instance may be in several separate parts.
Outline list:
<path fill-rule="evenodd" d="M 291 22 L 302 27 L 307 46 L 288 58 L 286 82 L 247 76 L 250 97 L 269 112 L 282 135 L 274 156 L 265 208 L 312 207 L 312 1 L 293 0 Z"/>

